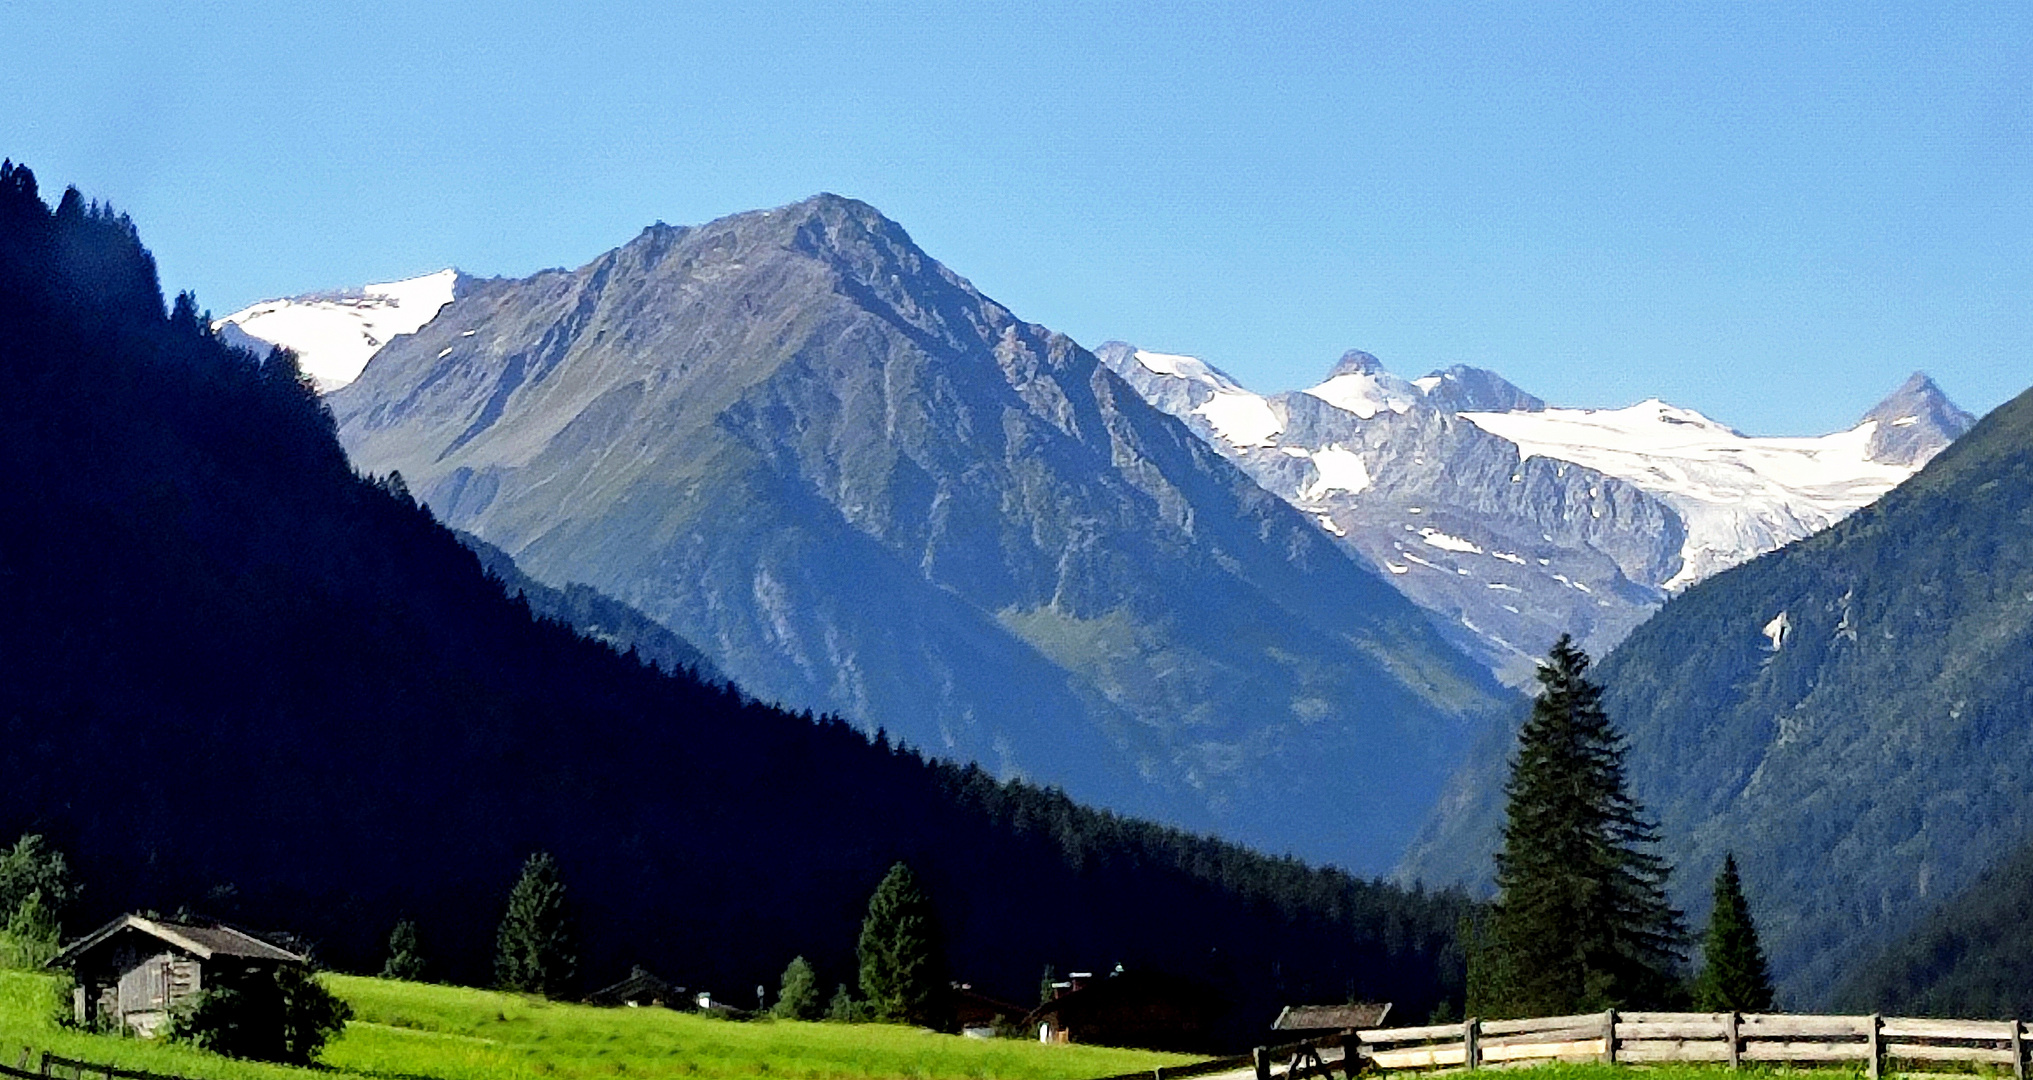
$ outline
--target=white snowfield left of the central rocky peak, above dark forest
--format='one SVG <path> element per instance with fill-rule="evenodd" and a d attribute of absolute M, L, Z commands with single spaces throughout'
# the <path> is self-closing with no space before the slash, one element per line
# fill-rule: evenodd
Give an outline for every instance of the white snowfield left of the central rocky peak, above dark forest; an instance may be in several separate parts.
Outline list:
<path fill-rule="evenodd" d="M 405 281 L 382 281 L 346 293 L 276 299 L 244 307 L 213 321 L 234 323 L 250 338 L 297 352 L 319 393 L 360 378 L 368 360 L 398 334 L 415 334 L 451 303 L 457 271 Z"/>

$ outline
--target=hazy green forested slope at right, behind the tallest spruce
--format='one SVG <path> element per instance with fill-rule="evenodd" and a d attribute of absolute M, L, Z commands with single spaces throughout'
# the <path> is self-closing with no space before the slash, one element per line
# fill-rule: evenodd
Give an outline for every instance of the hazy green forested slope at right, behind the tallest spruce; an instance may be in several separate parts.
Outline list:
<path fill-rule="evenodd" d="M 1876 504 L 1689 588 L 1600 665 L 1675 899 L 1736 852 L 1789 1007 L 2033 834 L 2033 393 Z M 1484 877 L 1504 746 L 1403 873 Z"/>

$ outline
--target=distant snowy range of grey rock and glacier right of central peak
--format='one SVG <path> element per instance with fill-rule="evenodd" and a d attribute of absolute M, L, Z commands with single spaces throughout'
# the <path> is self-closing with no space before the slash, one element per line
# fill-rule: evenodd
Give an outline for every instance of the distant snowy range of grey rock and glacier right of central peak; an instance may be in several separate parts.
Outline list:
<path fill-rule="evenodd" d="M 1407 380 L 1366 352 L 1269 397 L 1193 356 L 1096 354 L 1517 685 L 1561 633 L 1608 651 L 1669 592 L 1840 521 L 1972 423 L 1923 374 L 1848 431 L 1746 437 L 1661 401 L 1549 409 L 1482 368 Z"/>

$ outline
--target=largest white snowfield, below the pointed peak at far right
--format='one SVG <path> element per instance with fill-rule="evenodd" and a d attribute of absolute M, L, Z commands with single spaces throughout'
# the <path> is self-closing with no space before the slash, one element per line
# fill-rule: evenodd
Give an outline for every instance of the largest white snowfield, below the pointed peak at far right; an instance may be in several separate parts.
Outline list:
<path fill-rule="evenodd" d="M 1748 437 L 1657 399 L 1462 419 L 1511 439 L 1525 458 L 1588 466 L 1679 511 L 1687 541 L 1669 590 L 1818 533 L 1915 472 L 1870 460 L 1876 421 L 1820 437 Z"/>

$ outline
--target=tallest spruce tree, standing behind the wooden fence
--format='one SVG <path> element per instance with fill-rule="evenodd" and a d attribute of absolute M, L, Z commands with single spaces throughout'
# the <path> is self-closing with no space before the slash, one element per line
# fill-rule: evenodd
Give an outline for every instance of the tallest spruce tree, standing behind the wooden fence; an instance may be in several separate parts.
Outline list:
<path fill-rule="evenodd" d="M 1685 923 L 1667 899 L 1657 826 L 1624 785 L 1624 744 L 1565 635 L 1539 665 L 1496 856 L 1498 897 L 1474 942 L 1470 1013 L 1661 1007 L 1677 995 Z"/>

